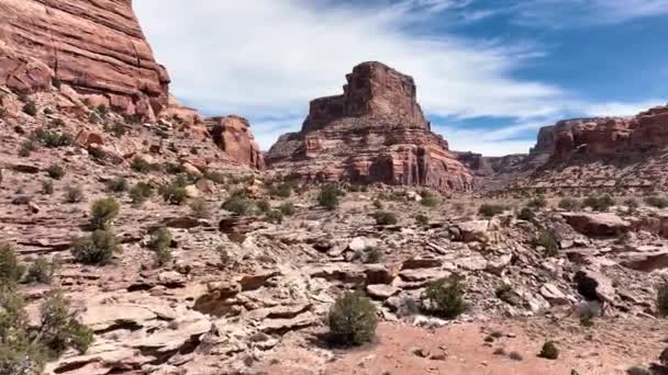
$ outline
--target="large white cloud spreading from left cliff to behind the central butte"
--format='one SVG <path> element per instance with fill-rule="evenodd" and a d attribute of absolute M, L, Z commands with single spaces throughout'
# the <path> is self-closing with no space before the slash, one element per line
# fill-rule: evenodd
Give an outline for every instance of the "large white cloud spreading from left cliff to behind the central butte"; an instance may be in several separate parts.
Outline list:
<path fill-rule="evenodd" d="M 531 117 L 561 110 L 561 90 L 512 77 L 535 56 L 532 48 L 408 31 L 415 9 L 442 11 L 467 1 L 409 2 L 143 0 L 134 5 L 158 60 L 168 67 L 171 91 L 212 114 L 303 118 L 310 100 L 342 92 L 345 75 L 366 60 L 412 75 L 432 115 Z M 268 148 L 265 127 L 253 124 Z"/>

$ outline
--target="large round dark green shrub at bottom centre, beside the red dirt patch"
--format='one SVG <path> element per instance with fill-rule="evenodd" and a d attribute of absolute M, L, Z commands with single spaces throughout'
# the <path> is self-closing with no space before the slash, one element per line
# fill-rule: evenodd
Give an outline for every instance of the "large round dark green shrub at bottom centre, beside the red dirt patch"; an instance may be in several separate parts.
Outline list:
<path fill-rule="evenodd" d="M 338 297 L 327 316 L 334 343 L 360 345 L 371 341 L 378 326 L 376 306 L 361 292 L 348 292 Z"/>

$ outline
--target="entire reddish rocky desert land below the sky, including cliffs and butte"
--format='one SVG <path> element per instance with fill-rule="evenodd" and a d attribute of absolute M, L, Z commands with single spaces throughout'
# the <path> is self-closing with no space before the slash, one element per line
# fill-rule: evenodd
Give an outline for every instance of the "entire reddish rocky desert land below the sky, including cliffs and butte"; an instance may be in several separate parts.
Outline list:
<path fill-rule="evenodd" d="M 0 374 L 668 373 L 668 107 L 486 158 L 371 61 L 261 152 L 130 1 L 44 7 L 0 1 Z"/>

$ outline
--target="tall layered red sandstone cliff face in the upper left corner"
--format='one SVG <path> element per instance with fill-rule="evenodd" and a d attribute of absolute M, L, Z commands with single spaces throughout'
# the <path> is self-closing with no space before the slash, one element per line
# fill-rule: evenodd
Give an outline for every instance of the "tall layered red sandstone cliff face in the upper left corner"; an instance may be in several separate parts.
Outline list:
<path fill-rule="evenodd" d="M 0 86 L 31 93 L 57 78 L 129 114 L 167 105 L 169 76 L 131 0 L 3 0 L 0 14 Z"/>

